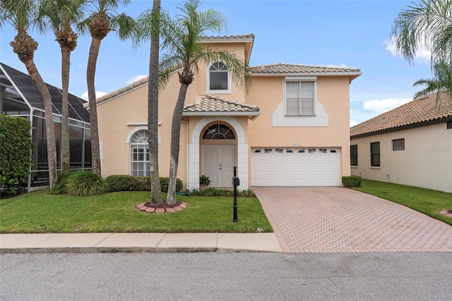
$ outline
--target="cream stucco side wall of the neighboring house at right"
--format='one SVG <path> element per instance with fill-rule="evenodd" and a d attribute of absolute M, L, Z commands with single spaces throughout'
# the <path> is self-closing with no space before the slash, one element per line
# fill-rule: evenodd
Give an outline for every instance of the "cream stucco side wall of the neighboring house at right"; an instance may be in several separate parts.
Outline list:
<path fill-rule="evenodd" d="M 402 138 L 405 150 L 393 151 L 392 140 Z M 380 167 L 370 166 L 370 142 L 380 142 Z M 354 175 L 452 192 L 452 130 L 446 123 L 353 139 L 350 145 L 358 145 Z"/>

